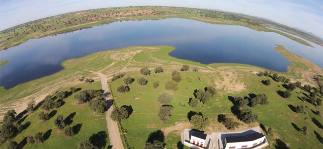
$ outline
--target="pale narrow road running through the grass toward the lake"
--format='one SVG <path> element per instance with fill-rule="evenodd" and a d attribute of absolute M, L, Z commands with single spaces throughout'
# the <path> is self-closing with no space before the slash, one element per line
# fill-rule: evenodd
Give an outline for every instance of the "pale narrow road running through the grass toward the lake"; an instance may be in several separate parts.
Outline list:
<path fill-rule="evenodd" d="M 108 103 L 108 110 L 105 112 L 105 118 L 106 118 L 106 124 L 108 125 L 110 146 L 112 146 L 112 149 L 124 149 L 121 141 L 120 133 L 119 133 L 118 124 L 117 122 L 112 121 L 112 119 L 110 118 L 111 112 L 113 111 L 113 106 L 112 106 L 112 100 L 108 95 L 109 88 L 108 88 L 106 76 L 104 74 L 97 73 L 97 72 L 92 72 L 92 73 L 95 73 L 100 76 L 102 89 L 105 95 L 105 100 Z"/>

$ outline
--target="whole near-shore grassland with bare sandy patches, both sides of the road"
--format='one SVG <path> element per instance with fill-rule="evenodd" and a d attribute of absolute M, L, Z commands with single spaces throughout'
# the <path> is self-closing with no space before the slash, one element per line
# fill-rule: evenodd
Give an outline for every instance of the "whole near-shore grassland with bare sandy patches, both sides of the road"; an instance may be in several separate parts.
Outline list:
<path fill-rule="evenodd" d="M 234 118 L 235 121 L 240 123 L 236 131 L 259 126 L 259 124 L 263 124 L 267 128 L 272 127 L 273 133 L 267 136 L 270 144 L 268 149 L 280 149 L 280 141 L 287 144 L 290 149 L 320 149 L 323 147 L 322 142 L 320 142 L 323 136 L 322 118 L 313 112 L 319 110 L 322 113 L 322 107 L 317 108 L 315 105 L 309 102 L 302 102 L 299 99 L 303 96 L 309 96 L 309 92 L 301 88 L 296 88 L 292 91 L 292 96 L 285 99 L 277 92 L 279 90 L 285 91 L 285 84 L 276 82 L 271 77 L 255 75 L 256 72 L 265 71 L 262 68 L 242 64 L 204 65 L 180 60 L 167 55 L 173 49 L 173 47 L 169 46 L 134 46 L 112 51 L 102 51 L 82 58 L 67 60 L 62 63 L 65 69 L 61 72 L 19 84 L 8 90 L 1 89 L 0 103 L 2 104 L 1 106 L 10 108 L 11 104 L 17 102 L 26 103 L 28 100 L 37 99 L 37 95 L 52 94 L 56 90 L 68 90 L 70 86 L 75 85 L 82 87 L 82 89 L 99 89 L 99 78 L 95 74 L 90 73 L 90 71 L 106 74 L 108 78 L 111 78 L 113 74 L 124 72 L 126 76 L 131 76 L 135 79 L 129 85 L 130 91 L 126 93 L 116 91 L 117 86 L 123 84 L 123 78 L 113 81 L 111 87 L 113 95 L 116 97 L 115 101 L 117 106 L 131 105 L 133 108 L 132 114 L 128 119 L 122 121 L 122 125 L 127 129 L 126 136 L 130 147 L 135 147 L 135 149 L 142 149 L 150 133 L 157 130 L 164 132 L 166 148 L 176 149 L 177 143 L 180 141 L 179 133 L 183 129 L 191 127 L 187 119 L 187 113 L 189 111 L 201 112 L 210 119 L 211 124 L 205 131 L 208 134 L 212 132 L 230 132 L 223 124 L 217 121 L 219 114 L 225 114 L 227 117 Z M 277 45 L 277 48 L 273 50 L 281 53 L 292 64 L 292 66 L 288 67 L 287 73 L 278 73 L 279 75 L 291 78 L 292 82 L 301 81 L 302 85 L 311 84 L 312 86 L 317 86 L 312 76 L 314 74 L 323 75 L 320 67 L 291 53 L 282 46 Z M 179 83 L 179 89 L 177 91 L 165 90 L 164 82 L 169 81 L 171 79 L 171 72 L 174 70 L 179 71 L 183 64 L 188 64 L 191 68 L 197 67 L 199 68 L 199 72 L 180 72 L 182 80 Z M 154 68 L 158 66 L 164 69 L 163 73 L 155 74 L 153 72 Z M 142 67 L 148 67 L 152 71 L 152 74 L 150 76 L 140 74 L 139 71 Z M 97 83 L 82 84 L 78 80 L 82 75 L 85 78 L 94 78 Z M 146 78 L 148 84 L 144 86 L 139 85 L 136 80 L 140 77 Z M 200 79 L 198 79 L 199 77 Z M 266 86 L 261 82 L 265 79 L 270 79 L 271 85 Z M 152 83 L 155 81 L 160 81 L 157 89 L 153 89 Z M 191 108 L 188 105 L 188 101 L 189 98 L 194 98 L 194 90 L 199 88 L 203 89 L 207 86 L 216 87 L 217 91 L 215 96 L 206 104 L 200 103 L 198 107 Z M 43 88 L 46 90 L 42 90 Z M 157 97 L 163 92 L 168 92 L 173 96 L 170 105 L 174 109 L 171 112 L 171 119 L 166 124 L 161 123 L 158 117 L 161 104 L 158 102 Z M 257 105 L 255 108 L 251 108 L 253 113 L 258 115 L 259 120 L 256 123 L 244 124 L 232 113 L 231 107 L 233 103 L 229 100 L 229 96 L 244 96 L 249 93 L 265 93 L 268 96 L 269 104 Z M 83 121 L 81 119 L 84 119 L 84 115 L 81 114 L 90 115 L 91 113 L 85 104 L 80 107 L 73 105 L 71 102 L 73 96 L 74 94 L 66 99 L 65 105 L 58 108 L 56 114 L 63 114 L 66 117 L 76 111 L 77 114 L 74 116 L 71 126 Z M 135 99 L 134 97 L 139 97 L 139 99 Z M 185 107 L 180 106 L 179 103 L 181 105 L 185 104 Z M 293 112 L 293 107 L 297 105 L 304 105 L 305 112 Z M 2 109 L 2 111 L 6 110 Z M 35 113 L 38 112 L 40 111 L 38 110 Z M 103 129 L 106 131 L 104 116 L 97 116 L 101 117 L 102 120 L 95 120 L 97 119 L 96 116 L 88 116 L 86 119 L 93 121 L 82 124 L 81 132 L 86 132 L 80 132 L 75 137 L 67 140 L 64 138 L 65 136 L 62 132 L 59 133 L 56 131 L 56 128 L 53 128 L 53 118 L 46 124 L 36 123 L 38 121 L 38 115 L 35 115 L 35 113 L 28 116 L 22 122 L 24 124 L 30 121 L 31 125 L 14 139 L 18 143 L 25 137 L 24 134 L 52 129 L 51 137 L 44 142 L 44 145 L 39 146 L 39 148 L 54 147 L 58 142 L 61 142 L 60 139 L 62 139 L 64 144 L 70 143 L 71 141 L 74 148 L 79 140 L 88 139 L 92 134 Z M 305 121 L 305 118 L 308 118 L 308 120 Z M 87 125 L 89 125 L 88 127 L 95 125 L 95 130 L 87 129 Z M 308 138 L 299 131 L 303 126 L 308 127 Z M 36 145 L 32 147 L 36 147 Z M 32 147 L 29 147 L 29 145 L 25 146 L 27 149 L 31 149 Z M 5 145 L 2 145 L 2 148 L 5 149 Z"/>

